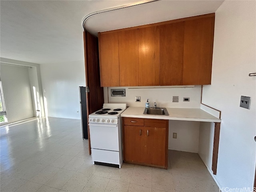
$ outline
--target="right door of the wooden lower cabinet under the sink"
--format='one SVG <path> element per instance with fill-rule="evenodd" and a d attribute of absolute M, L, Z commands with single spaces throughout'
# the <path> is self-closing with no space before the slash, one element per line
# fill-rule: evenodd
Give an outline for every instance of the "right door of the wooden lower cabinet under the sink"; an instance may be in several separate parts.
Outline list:
<path fill-rule="evenodd" d="M 144 127 L 145 130 L 145 162 L 166 166 L 166 128 Z"/>

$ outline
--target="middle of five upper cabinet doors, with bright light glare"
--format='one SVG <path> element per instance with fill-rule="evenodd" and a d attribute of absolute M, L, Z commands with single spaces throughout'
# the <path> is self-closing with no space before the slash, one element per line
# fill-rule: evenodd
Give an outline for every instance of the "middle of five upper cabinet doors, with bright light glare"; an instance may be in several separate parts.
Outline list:
<path fill-rule="evenodd" d="M 138 29 L 139 86 L 156 86 L 159 82 L 159 28 Z"/>

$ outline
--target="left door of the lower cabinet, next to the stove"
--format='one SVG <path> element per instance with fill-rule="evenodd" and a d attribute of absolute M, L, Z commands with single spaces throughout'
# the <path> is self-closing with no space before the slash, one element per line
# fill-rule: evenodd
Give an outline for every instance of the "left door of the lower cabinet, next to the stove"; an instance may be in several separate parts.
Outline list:
<path fill-rule="evenodd" d="M 144 162 L 144 127 L 124 126 L 124 160 L 126 162 Z"/>

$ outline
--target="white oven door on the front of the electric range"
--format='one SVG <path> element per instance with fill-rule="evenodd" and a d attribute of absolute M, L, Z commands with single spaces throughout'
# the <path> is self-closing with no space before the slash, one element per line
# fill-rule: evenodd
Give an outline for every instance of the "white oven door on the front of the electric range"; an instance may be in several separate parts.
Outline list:
<path fill-rule="evenodd" d="M 91 148 L 119 151 L 118 124 L 89 123 Z"/>

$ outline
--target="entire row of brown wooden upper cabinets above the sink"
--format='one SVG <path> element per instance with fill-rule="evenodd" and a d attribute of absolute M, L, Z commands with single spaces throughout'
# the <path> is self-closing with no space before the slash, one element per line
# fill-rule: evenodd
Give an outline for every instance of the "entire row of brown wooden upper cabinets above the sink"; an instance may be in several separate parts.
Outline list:
<path fill-rule="evenodd" d="M 211 84 L 214 17 L 99 33 L 101 86 Z"/>

